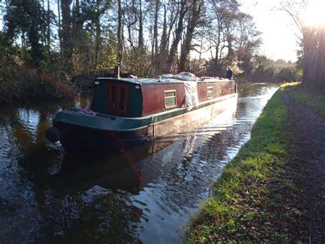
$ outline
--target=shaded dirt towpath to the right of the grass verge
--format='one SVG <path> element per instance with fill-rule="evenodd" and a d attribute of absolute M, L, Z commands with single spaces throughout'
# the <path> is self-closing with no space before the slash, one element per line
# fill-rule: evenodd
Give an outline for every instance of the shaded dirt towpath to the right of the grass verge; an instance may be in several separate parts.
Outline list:
<path fill-rule="evenodd" d="M 309 243 L 325 243 L 325 120 L 304 104 L 293 102 L 287 93 L 282 93 L 290 108 L 292 140 L 300 159 L 295 166 L 300 172 L 298 186 L 301 186 L 299 203 L 304 206 L 301 223 L 309 230 L 304 240 Z M 298 137 L 298 140 L 296 138 Z M 296 161 L 296 159 L 295 159 Z"/>

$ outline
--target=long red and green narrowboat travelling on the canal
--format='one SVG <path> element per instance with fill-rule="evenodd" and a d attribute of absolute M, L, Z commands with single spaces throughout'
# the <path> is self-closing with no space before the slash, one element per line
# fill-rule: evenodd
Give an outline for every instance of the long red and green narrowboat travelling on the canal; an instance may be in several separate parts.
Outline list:
<path fill-rule="evenodd" d="M 59 111 L 46 137 L 69 149 L 125 148 L 200 124 L 237 100 L 224 78 L 183 72 L 159 78 L 96 78 L 90 109 Z"/>

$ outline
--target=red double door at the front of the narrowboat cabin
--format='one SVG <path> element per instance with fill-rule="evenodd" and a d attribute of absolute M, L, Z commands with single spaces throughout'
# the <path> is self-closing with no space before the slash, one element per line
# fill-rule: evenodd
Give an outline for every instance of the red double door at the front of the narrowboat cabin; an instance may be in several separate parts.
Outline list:
<path fill-rule="evenodd" d="M 117 116 L 128 115 L 127 85 L 108 84 L 108 114 Z"/>

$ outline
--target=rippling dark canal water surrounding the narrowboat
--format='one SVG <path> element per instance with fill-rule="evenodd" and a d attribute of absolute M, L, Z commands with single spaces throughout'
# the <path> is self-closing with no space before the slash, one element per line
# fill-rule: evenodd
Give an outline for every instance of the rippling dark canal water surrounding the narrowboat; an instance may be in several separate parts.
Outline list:
<path fill-rule="evenodd" d="M 239 85 L 199 128 L 100 153 L 66 153 L 44 136 L 56 111 L 89 99 L 1 107 L 0 243 L 181 243 L 276 89 Z"/>

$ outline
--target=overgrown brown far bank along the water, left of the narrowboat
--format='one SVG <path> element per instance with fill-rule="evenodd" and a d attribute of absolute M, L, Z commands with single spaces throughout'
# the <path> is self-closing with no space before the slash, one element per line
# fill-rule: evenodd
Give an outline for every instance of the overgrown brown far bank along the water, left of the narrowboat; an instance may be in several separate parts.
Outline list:
<path fill-rule="evenodd" d="M 97 77 L 113 77 L 112 71 L 97 71 L 69 76 L 64 72 L 47 74 L 41 69 L 3 67 L 0 69 L 0 104 L 33 102 L 48 98 L 74 99 L 78 94 L 93 92 Z M 121 73 L 121 77 L 130 77 Z"/>

